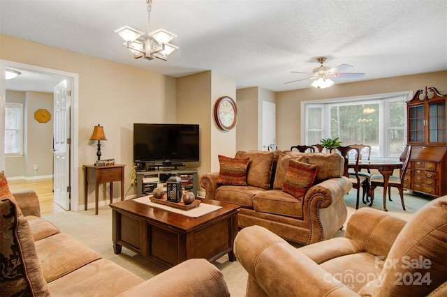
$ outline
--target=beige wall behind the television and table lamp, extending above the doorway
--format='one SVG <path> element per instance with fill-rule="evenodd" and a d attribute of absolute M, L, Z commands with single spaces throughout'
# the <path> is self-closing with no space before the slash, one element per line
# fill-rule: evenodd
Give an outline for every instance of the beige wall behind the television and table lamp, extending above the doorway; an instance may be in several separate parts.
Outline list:
<path fill-rule="evenodd" d="M 115 158 L 115 162 L 127 165 L 127 192 L 133 167 L 133 123 L 176 121 L 173 77 L 3 34 L 0 34 L 0 59 L 79 75 L 79 146 L 78 164 L 74 166 L 79 170 L 81 205 L 84 201 L 82 165 L 96 160 L 96 144 L 89 140 L 94 125 L 103 125 L 108 138 L 101 142 L 101 158 Z M 133 58 L 129 56 L 129 59 Z M 89 204 L 94 202 L 93 190 L 94 187 L 89 187 Z M 133 193 L 130 189 L 127 195 Z M 119 191 L 114 194 L 119 195 Z M 107 203 L 106 193 L 100 200 Z"/>

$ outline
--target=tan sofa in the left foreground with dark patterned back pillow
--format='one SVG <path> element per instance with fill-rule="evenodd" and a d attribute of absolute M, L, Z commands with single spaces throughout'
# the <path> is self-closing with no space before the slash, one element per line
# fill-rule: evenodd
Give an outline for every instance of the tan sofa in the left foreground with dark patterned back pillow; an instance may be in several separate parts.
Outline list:
<path fill-rule="evenodd" d="M 1 296 L 230 296 L 205 259 L 142 280 L 40 218 L 34 192 L 5 192 L 0 178 Z"/>

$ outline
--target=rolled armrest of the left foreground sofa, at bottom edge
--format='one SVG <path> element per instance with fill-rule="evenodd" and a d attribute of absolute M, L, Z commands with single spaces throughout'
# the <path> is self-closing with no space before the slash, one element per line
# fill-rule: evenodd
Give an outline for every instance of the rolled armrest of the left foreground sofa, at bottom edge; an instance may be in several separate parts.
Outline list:
<path fill-rule="evenodd" d="M 119 296 L 230 296 L 219 269 L 205 259 L 189 259 Z"/>

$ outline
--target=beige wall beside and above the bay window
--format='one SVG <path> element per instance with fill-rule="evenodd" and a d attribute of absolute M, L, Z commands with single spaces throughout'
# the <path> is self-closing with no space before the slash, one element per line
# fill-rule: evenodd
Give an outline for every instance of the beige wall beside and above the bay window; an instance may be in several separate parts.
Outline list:
<path fill-rule="evenodd" d="M 447 71 L 374 79 L 349 84 L 334 84 L 328 89 L 309 87 L 295 91 L 276 93 L 277 101 L 277 145 L 286 150 L 300 144 L 301 101 L 365 96 L 378 93 L 393 93 L 425 89 L 434 86 L 441 93 L 447 93 Z"/>

